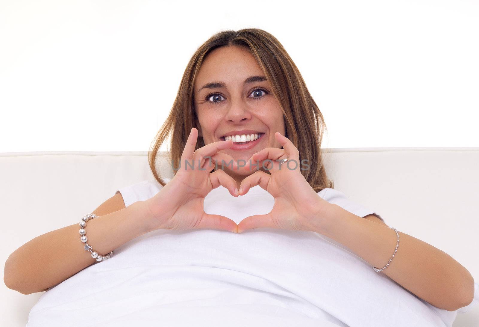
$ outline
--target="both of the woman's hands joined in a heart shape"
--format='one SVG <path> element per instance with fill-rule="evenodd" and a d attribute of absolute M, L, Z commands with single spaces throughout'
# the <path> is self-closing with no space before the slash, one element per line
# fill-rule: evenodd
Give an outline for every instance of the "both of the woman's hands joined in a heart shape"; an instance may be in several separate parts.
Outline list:
<path fill-rule="evenodd" d="M 239 190 L 236 181 L 224 170 L 211 173 L 215 162 L 223 160 L 232 163 L 233 169 L 239 169 L 230 155 L 219 152 L 228 149 L 233 141 L 213 142 L 195 151 L 197 137 L 198 130 L 192 128 L 182 152 L 184 168 L 179 169 L 160 192 L 145 201 L 151 212 L 147 222 L 151 230 L 210 228 L 241 233 L 271 227 L 313 231 L 313 226 L 318 225 L 317 220 L 321 219 L 321 212 L 329 202 L 319 197 L 301 174 L 299 151 L 285 136 L 279 132 L 274 134 L 283 149 L 265 148 L 253 154 L 244 167 L 248 170 L 267 167 L 271 175 L 257 170 L 243 179 Z M 280 164 L 285 158 L 288 160 Z M 227 217 L 207 214 L 203 209 L 205 196 L 220 185 L 234 197 L 245 195 L 251 187 L 259 185 L 274 197 L 273 209 L 264 215 L 246 217 L 238 225 Z"/>

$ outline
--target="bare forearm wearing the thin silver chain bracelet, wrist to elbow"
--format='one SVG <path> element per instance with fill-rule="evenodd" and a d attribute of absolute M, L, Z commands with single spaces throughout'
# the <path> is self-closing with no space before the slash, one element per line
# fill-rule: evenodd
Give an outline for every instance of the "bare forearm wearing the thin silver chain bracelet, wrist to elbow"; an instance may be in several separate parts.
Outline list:
<path fill-rule="evenodd" d="M 396 232 L 384 222 L 373 222 L 330 204 L 321 212 L 314 232 L 350 248 L 372 266 L 381 269 L 397 244 Z M 474 278 L 445 252 L 411 235 L 399 232 L 399 247 L 387 269 L 380 273 L 440 309 L 455 311 L 470 304 Z M 372 270 L 372 267 L 371 267 Z"/>

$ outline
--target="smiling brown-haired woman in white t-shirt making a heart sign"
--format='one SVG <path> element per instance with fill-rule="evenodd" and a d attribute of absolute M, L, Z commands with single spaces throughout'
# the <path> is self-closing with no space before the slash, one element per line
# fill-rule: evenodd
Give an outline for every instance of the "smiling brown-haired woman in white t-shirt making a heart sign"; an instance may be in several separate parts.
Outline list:
<path fill-rule="evenodd" d="M 27 326 L 449 326 L 473 299 L 472 276 L 335 190 L 324 129 L 273 35 L 213 35 L 149 152 L 155 180 L 119 189 L 87 220 L 102 262 L 78 223 L 9 257 L 8 287 L 48 290 Z M 163 180 L 169 136 L 174 177 Z"/>

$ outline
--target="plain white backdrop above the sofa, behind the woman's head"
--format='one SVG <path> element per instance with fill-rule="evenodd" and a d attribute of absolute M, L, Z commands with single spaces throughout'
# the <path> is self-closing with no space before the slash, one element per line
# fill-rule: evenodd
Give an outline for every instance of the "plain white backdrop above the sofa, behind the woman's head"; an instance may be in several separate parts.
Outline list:
<path fill-rule="evenodd" d="M 0 152 L 148 151 L 196 48 L 246 27 L 297 64 L 324 148 L 477 147 L 478 17 L 466 0 L 2 0 Z"/>

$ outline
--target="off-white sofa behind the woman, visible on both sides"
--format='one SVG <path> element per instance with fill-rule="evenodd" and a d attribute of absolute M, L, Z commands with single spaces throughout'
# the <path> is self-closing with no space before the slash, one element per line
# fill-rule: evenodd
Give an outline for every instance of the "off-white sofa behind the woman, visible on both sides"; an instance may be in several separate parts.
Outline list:
<path fill-rule="evenodd" d="M 161 156 L 159 169 L 171 177 Z M 326 149 L 325 156 L 336 189 L 445 251 L 479 283 L 479 148 Z M 2 262 L 34 237 L 79 221 L 119 187 L 152 178 L 147 152 L 0 153 Z M 3 284 L 0 326 L 24 326 L 41 294 Z M 479 326 L 479 305 L 459 312 L 454 326 Z"/>

